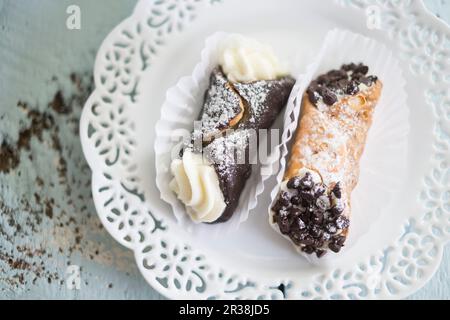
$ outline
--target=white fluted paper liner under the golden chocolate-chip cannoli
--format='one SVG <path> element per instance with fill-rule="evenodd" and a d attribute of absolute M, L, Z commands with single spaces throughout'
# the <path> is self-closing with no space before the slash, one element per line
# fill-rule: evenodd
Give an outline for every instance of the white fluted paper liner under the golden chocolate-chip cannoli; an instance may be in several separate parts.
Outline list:
<path fill-rule="evenodd" d="M 383 83 L 380 101 L 374 113 L 373 124 L 369 130 L 365 151 L 360 161 L 358 185 L 352 193 L 352 212 L 350 216 L 349 237 L 339 255 L 350 250 L 370 227 L 395 193 L 400 190 L 406 175 L 408 150 L 409 109 L 406 104 L 405 80 L 402 70 L 393 53 L 375 40 L 349 31 L 332 30 L 324 41 L 311 80 L 329 70 L 340 68 L 342 64 L 363 62 L 369 66 L 369 74 L 378 76 Z M 309 70 L 311 71 L 311 70 Z M 303 88 L 302 88 L 303 89 Z M 273 205 L 283 180 L 289 157 L 288 144 L 297 128 L 301 99 L 304 90 L 297 91 L 292 117 L 285 117 L 281 144 L 280 171 L 277 186 L 271 192 Z M 289 110 L 286 111 L 286 115 Z M 269 208 L 269 223 L 281 234 L 278 225 L 272 223 Z M 286 237 L 285 237 L 286 238 Z M 336 257 L 331 251 L 321 259 L 305 255 L 313 263 L 324 263 Z"/>

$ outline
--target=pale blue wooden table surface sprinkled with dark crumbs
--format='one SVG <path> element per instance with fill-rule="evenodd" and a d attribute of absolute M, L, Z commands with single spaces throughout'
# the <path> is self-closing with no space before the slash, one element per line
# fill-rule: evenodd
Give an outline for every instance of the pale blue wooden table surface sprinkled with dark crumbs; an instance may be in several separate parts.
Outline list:
<path fill-rule="evenodd" d="M 450 23 L 450 1 L 425 2 Z M 134 3 L 0 0 L 0 298 L 162 298 L 101 228 L 77 134 L 95 52 Z M 79 31 L 66 28 L 71 4 Z M 68 265 L 81 267 L 80 290 L 66 287 Z M 449 299 L 449 279 L 447 246 L 411 298 Z"/>

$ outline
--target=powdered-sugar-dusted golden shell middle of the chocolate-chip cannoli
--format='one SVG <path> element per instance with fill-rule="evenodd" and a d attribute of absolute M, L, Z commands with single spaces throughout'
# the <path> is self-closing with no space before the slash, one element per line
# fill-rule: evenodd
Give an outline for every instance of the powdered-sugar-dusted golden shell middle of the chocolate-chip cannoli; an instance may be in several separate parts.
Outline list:
<path fill-rule="evenodd" d="M 377 85 L 362 87 L 364 97 L 374 95 Z M 311 109 L 301 121 L 302 131 L 293 148 L 300 150 L 292 155 L 292 162 L 315 168 L 325 184 L 341 182 L 344 190 L 352 190 L 359 176 L 359 157 L 365 143 L 367 130 L 376 101 L 367 101 L 364 110 L 352 108 L 351 96 L 343 95 L 332 106 Z M 312 107 L 315 108 L 315 107 Z"/>

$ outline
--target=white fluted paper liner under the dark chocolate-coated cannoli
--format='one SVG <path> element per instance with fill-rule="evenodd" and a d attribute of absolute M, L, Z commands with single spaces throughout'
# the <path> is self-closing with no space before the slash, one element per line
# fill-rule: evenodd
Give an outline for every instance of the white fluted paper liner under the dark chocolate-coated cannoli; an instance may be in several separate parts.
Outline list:
<path fill-rule="evenodd" d="M 195 67 L 192 75 L 180 79 L 174 87 L 168 90 L 161 110 L 161 119 L 156 125 L 156 184 L 161 192 L 161 198 L 172 206 L 178 223 L 189 232 L 195 231 L 195 234 L 207 232 L 209 236 L 217 236 L 236 230 L 240 223 L 247 220 L 249 212 L 256 207 L 257 197 L 264 191 L 264 182 L 279 169 L 278 145 L 272 148 L 270 156 L 268 159 L 264 159 L 263 164 L 253 165 L 252 174 L 246 182 L 237 209 L 229 221 L 221 224 L 206 225 L 192 222 L 186 213 L 185 206 L 169 188 L 172 179 L 170 163 L 176 157 L 176 154 L 172 154 L 174 146 L 176 142 L 180 141 L 180 136 L 188 137 L 192 132 L 194 121 L 197 120 L 203 105 L 210 74 L 219 64 L 221 44 L 227 41 L 227 38 L 234 36 L 238 35 L 219 32 L 207 38 L 205 48 L 201 53 L 201 61 Z M 286 66 L 293 72 L 298 70 L 292 64 Z M 297 96 L 296 90 L 304 90 L 309 83 L 308 79 L 304 79 L 303 76 L 299 76 L 297 80 L 289 99 L 288 110 L 294 109 L 293 101 Z M 280 124 L 280 130 L 282 130 L 284 122 L 280 121 L 283 113 L 284 110 L 279 115 L 279 120 L 276 121 Z M 265 144 L 264 139 L 260 141 L 260 145 L 263 144 Z"/>

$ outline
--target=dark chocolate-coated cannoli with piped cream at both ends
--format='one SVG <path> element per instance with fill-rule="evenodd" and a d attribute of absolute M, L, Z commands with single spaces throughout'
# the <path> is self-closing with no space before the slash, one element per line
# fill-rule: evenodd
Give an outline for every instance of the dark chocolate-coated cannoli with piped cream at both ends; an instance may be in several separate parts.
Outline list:
<path fill-rule="evenodd" d="M 233 215 L 251 174 L 256 131 L 272 126 L 293 85 L 269 47 L 234 37 L 221 48 L 201 127 L 171 163 L 170 188 L 194 222 L 225 222 Z"/>

